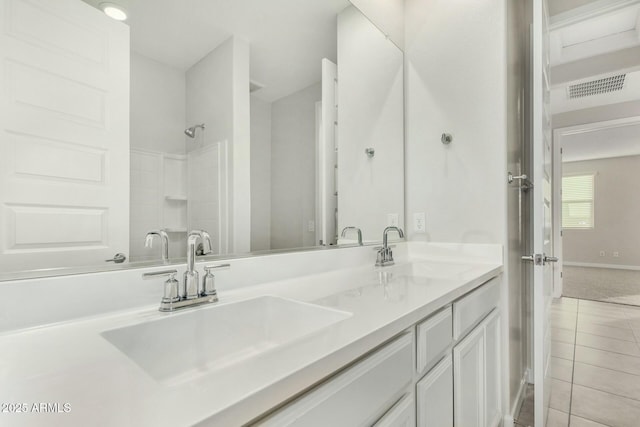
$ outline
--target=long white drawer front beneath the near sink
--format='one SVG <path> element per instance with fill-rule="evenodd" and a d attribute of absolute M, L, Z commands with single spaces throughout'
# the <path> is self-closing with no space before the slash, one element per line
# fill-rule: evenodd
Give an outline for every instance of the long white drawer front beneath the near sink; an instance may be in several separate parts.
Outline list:
<path fill-rule="evenodd" d="M 256 425 L 371 425 L 411 383 L 412 359 L 412 334 L 405 333 Z"/>

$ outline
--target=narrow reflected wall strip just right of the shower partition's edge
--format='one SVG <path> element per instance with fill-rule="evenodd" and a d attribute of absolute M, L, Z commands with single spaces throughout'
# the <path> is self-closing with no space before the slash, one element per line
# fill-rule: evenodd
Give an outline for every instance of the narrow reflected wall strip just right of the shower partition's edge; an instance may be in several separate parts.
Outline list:
<path fill-rule="evenodd" d="M 271 104 L 251 96 L 251 250 L 271 249 Z"/>

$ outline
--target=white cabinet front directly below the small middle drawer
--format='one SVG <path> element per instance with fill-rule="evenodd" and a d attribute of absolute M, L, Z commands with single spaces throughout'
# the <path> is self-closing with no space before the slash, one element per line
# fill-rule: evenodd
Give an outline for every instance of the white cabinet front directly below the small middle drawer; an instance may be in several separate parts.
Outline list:
<path fill-rule="evenodd" d="M 438 363 L 416 385 L 419 427 L 453 426 L 453 366 L 451 356 Z"/>

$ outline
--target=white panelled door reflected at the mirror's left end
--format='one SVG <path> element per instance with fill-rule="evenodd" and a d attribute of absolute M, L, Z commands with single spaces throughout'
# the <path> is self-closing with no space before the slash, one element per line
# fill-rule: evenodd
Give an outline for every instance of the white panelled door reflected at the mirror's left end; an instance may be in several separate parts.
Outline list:
<path fill-rule="evenodd" d="M 2 271 L 129 249 L 129 28 L 78 0 L 0 7 Z"/>

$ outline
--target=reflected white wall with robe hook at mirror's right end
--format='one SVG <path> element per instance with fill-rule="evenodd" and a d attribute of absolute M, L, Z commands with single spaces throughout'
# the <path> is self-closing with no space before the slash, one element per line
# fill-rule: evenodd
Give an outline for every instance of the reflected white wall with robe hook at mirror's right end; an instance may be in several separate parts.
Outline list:
<path fill-rule="evenodd" d="M 404 227 L 403 55 L 355 7 L 338 15 L 338 230 Z M 374 148 L 367 157 L 365 148 Z"/>

